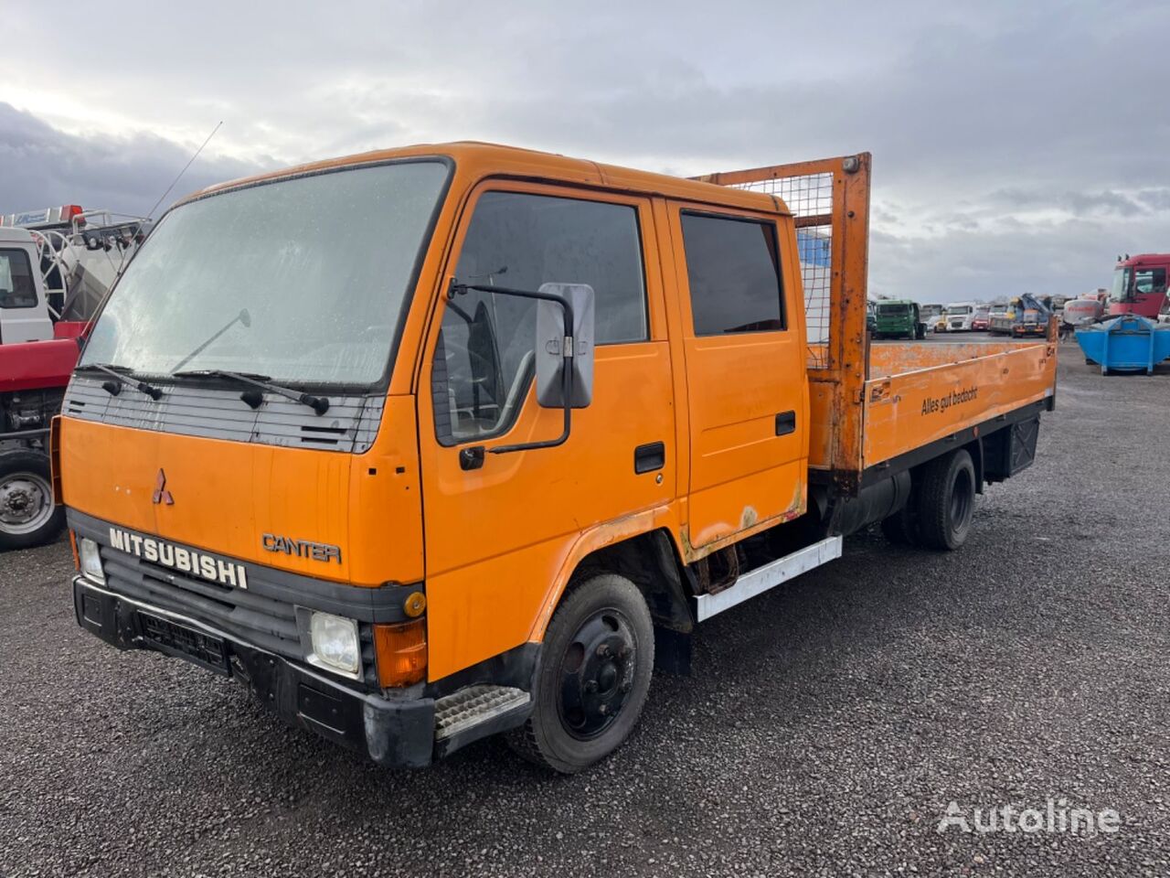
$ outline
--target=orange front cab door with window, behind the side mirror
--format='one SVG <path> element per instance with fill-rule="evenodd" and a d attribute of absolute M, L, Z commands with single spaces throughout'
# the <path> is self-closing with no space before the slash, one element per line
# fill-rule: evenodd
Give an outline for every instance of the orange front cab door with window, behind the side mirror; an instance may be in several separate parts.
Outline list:
<path fill-rule="evenodd" d="M 529 640 L 583 533 L 674 501 L 660 274 L 648 199 L 501 180 L 464 207 L 445 288 L 593 287 L 593 399 L 563 445 L 493 454 L 562 432 L 562 410 L 536 400 L 536 306 L 439 296 L 418 395 L 432 679 Z"/>

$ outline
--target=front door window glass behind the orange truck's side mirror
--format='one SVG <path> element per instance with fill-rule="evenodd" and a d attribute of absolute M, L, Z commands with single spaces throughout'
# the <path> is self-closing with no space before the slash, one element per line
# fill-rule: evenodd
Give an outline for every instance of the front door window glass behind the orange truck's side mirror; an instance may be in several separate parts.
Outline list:
<path fill-rule="evenodd" d="M 459 256 L 460 283 L 593 288 L 596 343 L 648 338 L 638 211 L 629 205 L 488 192 Z M 536 302 L 468 290 L 446 303 L 432 370 L 435 433 L 454 445 L 515 421 L 535 372 Z"/>

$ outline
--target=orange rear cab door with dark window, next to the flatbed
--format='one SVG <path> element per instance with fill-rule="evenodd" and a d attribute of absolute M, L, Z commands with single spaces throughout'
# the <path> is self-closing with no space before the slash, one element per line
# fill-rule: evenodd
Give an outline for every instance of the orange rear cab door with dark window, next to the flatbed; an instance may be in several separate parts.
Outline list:
<path fill-rule="evenodd" d="M 690 438 L 688 536 L 711 547 L 805 509 L 808 393 L 790 229 L 673 203 Z"/>

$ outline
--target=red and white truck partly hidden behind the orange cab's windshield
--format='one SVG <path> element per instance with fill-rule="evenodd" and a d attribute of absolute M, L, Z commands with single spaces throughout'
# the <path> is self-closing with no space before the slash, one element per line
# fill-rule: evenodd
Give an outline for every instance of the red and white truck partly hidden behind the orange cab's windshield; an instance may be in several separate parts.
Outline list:
<path fill-rule="evenodd" d="M 77 205 L 0 217 L 0 551 L 61 530 L 49 430 L 89 321 L 145 222 Z"/>

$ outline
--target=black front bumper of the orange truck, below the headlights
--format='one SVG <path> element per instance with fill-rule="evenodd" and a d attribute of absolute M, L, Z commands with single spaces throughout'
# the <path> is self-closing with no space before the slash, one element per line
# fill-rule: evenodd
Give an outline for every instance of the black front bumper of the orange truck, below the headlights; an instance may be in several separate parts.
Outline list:
<path fill-rule="evenodd" d="M 247 685 L 278 716 L 380 766 L 421 768 L 434 750 L 432 698 L 386 699 L 357 692 L 275 653 L 241 643 L 185 616 L 117 595 L 75 576 L 77 624 L 121 650 L 185 658 Z M 157 620 L 170 623 L 163 636 Z"/>

